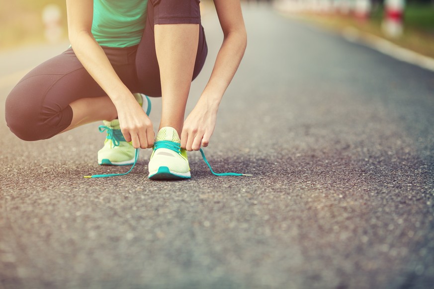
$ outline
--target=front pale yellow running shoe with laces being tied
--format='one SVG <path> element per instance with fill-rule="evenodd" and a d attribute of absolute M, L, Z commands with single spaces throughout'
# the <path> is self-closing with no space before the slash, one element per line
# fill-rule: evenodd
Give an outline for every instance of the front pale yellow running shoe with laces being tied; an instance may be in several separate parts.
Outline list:
<path fill-rule="evenodd" d="M 174 128 L 160 129 L 154 143 L 154 151 L 148 164 L 150 179 L 189 179 L 187 151 Z"/>

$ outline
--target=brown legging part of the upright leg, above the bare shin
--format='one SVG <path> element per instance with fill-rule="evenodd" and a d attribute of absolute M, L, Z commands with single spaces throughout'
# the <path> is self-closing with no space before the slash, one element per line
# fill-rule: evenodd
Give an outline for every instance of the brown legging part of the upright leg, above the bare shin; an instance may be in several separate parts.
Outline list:
<path fill-rule="evenodd" d="M 199 24 L 199 44 L 193 78 L 199 74 L 208 53 L 204 29 L 200 23 L 198 0 L 148 0 L 146 26 L 137 48 L 136 72 L 139 92 L 149 96 L 161 96 L 160 69 L 155 51 L 155 24 Z"/>

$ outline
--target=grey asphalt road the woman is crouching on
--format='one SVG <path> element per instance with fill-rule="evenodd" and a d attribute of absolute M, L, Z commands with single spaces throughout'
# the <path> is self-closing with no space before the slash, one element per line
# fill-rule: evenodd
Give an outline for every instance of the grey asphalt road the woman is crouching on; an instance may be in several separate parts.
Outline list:
<path fill-rule="evenodd" d="M 13 73 L 65 46 L 0 55 L 0 289 L 432 288 L 434 73 L 244 14 L 248 49 L 205 152 L 252 177 L 216 177 L 194 152 L 190 180 L 150 181 L 144 150 L 127 176 L 84 179 L 127 169 L 96 164 L 97 124 L 27 143 L 4 122 Z M 187 110 L 222 39 L 213 12 L 203 24 Z"/>

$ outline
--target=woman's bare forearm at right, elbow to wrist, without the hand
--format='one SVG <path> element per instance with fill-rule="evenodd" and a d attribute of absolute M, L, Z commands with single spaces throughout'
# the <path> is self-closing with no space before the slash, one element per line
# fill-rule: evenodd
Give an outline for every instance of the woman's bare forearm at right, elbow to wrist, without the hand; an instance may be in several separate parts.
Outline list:
<path fill-rule="evenodd" d="M 223 94 L 237 71 L 247 45 L 244 29 L 228 33 L 217 55 L 211 77 L 202 92 L 200 102 L 217 109 Z"/>

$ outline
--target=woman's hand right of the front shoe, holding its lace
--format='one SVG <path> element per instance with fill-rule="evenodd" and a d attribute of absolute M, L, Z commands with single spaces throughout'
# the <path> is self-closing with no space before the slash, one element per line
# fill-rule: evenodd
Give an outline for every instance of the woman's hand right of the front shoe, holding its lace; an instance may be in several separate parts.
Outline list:
<path fill-rule="evenodd" d="M 208 146 L 217 120 L 218 104 L 199 100 L 184 121 L 181 133 L 181 147 L 191 151 Z"/>

